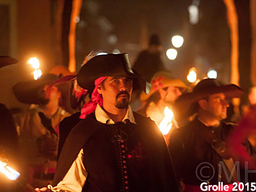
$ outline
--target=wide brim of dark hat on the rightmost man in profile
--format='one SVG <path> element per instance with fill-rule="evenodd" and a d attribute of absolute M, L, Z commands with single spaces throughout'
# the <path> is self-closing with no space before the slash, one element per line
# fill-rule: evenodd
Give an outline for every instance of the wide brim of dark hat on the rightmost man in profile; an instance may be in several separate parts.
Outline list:
<path fill-rule="evenodd" d="M 205 88 L 204 90 L 198 92 L 185 93 L 180 95 L 180 97 L 175 101 L 173 105 L 173 114 L 177 121 L 184 120 L 189 116 L 196 113 L 196 104 L 198 100 L 216 93 L 224 93 L 225 98 L 232 99 L 241 97 L 244 91 L 236 86 L 236 84 L 228 84 L 223 86 L 218 86 L 214 88 Z"/>

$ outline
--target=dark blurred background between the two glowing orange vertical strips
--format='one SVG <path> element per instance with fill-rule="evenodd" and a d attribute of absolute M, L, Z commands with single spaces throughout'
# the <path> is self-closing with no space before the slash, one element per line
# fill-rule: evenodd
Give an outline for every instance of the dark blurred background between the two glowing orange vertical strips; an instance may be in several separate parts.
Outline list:
<path fill-rule="evenodd" d="M 225 4 L 221 0 L 201 0 L 199 22 L 192 25 L 188 12 L 191 3 L 192 0 L 84 1 L 77 25 L 77 63 L 92 50 L 111 52 L 115 48 L 128 52 L 133 62 L 141 51 L 141 20 L 145 20 L 148 36 L 157 33 L 161 38 L 163 62 L 175 76 L 185 80 L 191 67 L 198 67 L 202 74 L 216 68 L 219 77 L 228 81 L 230 37 Z M 102 18 L 111 23 L 111 29 L 100 27 Z M 111 34 L 118 38 L 115 45 L 108 44 Z M 182 35 L 184 44 L 177 49 L 176 60 L 171 61 L 165 52 L 173 48 L 173 35 Z"/>

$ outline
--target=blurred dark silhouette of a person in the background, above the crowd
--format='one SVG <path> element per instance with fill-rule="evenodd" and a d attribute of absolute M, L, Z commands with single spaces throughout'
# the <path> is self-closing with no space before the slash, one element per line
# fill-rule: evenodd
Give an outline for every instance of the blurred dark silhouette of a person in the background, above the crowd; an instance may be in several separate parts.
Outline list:
<path fill-rule="evenodd" d="M 164 70 L 160 56 L 161 50 L 162 46 L 159 37 L 154 34 L 150 38 L 148 49 L 140 52 L 134 63 L 134 68 L 138 70 L 140 75 L 148 82 L 150 82 L 156 72 Z"/>

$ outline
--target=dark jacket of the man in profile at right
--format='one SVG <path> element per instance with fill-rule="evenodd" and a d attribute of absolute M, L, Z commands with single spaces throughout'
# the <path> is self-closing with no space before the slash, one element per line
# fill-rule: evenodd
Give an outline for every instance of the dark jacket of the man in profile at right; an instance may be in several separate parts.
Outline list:
<path fill-rule="evenodd" d="M 202 134 L 205 129 L 207 131 L 211 130 L 210 132 L 215 134 L 218 139 L 225 141 L 234 127 L 224 122 L 221 122 L 219 127 L 206 127 L 198 118 L 195 118 L 193 122 L 190 122 L 185 127 L 175 129 L 170 137 L 169 149 L 172 154 L 177 177 L 179 180 L 183 180 L 185 184 L 195 186 L 202 184 L 202 180 L 210 184 L 218 184 L 220 179 L 223 184 L 228 184 L 229 182 L 224 175 L 223 168 L 227 170 L 228 176 L 230 171 L 225 164 L 221 163 L 223 159 L 205 140 Z M 252 155 L 254 151 L 250 143 L 246 140 L 244 145 Z M 221 164 L 224 167 L 219 172 Z M 202 168 L 203 166 L 208 168 Z M 200 170 L 202 170 L 202 173 L 200 173 Z M 205 176 L 205 178 L 200 175 Z M 243 181 L 242 171 L 240 175 Z M 234 180 L 231 180 L 231 182 L 234 182 Z"/>

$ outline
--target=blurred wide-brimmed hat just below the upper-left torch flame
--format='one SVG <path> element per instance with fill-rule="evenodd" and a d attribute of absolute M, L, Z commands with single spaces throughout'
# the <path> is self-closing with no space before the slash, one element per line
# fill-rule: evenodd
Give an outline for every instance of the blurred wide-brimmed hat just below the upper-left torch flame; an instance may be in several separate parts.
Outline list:
<path fill-rule="evenodd" d="M 13 86 L 13 93 L 20 102 L 27 104 L 38 104 L 38 90 L 40 88 L 44 88 L 46 84 L 52 84 L 57 79 L 58 76 L 54 74 L 43 74 L 40 79 L 23 81 L 15 84 L 15 86 Z M 61 90 L 64 85 L 61 84 L 60 86 L 57 86 Z"/>

